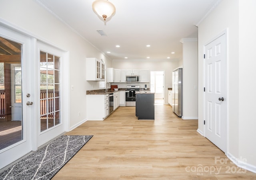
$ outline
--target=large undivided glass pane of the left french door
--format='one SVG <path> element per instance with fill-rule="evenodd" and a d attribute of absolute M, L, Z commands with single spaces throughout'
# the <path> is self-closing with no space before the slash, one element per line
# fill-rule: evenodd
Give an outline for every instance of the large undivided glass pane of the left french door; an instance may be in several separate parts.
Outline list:
<path fill-rule="evenodd" d="M 21 47 L 0 37 L 0 150 L 23 140 Z"/>

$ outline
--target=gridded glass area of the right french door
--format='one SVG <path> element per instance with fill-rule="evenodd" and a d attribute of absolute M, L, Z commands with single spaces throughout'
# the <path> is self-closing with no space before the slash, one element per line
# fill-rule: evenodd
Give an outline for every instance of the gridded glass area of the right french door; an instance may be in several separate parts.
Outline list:
<path fill-rule="evenodd" d="M 40 131 L 60 124 L 60 57 L 40 51 Z"/>

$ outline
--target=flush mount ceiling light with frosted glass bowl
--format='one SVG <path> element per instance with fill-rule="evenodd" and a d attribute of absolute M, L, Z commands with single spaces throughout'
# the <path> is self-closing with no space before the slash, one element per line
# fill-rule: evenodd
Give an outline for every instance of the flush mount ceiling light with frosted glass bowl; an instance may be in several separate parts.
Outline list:
<path fill-rule="evenodd" d="M 110 18 L 115 12 L 115 6 L 108 0 L 96 0 L 92 3 L 92 9 L 100 16 L 104 21 L 106 18 Z"/>

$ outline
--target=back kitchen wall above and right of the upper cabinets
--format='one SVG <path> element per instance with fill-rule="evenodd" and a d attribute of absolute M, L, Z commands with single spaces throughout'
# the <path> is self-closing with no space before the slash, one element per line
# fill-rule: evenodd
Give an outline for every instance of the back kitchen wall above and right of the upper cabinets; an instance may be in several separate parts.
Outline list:
<path fill-rule="evenodd" d="M 157 61 L 157 60 L 113 60 L 112 66 L 116 69 L 149 69 L 150 71 L 164 71 L 165 74 L 165 89 L 164 89 L 164 103 L 168 103 L 168 88 L 172 88 L 172 70 L 179 67 L 180 61 Z M 144 84 L 140 83 L 141 87 Z M 120 84 L 120 87 L 126 87 L 127 83 Z M 118 86 L 119 87 L 119 86 Z M 147 87 L 150 87 L 147 84 Z"/>

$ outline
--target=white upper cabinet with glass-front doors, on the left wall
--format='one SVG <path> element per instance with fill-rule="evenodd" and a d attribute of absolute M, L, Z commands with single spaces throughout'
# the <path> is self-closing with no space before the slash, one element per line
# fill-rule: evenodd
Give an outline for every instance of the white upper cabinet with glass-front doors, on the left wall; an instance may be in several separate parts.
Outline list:
<path fill-rule="evenodd" d="M 104 81 L 105 64 L 94 57 L 86 58 L 86 80 Z"/>

